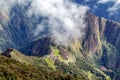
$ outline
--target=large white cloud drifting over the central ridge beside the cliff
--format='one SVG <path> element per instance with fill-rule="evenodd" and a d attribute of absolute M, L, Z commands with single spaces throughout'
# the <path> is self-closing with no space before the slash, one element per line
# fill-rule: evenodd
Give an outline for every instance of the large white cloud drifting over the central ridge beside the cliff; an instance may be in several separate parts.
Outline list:
<path fill-rule="evenodd" d="M 87 10 L 71 0 L 33 0 L 28 15 L 42 17 L 35 35 L 47 31 L 57 44 L 67 46 L 71 40 L 82 37 Z"/>

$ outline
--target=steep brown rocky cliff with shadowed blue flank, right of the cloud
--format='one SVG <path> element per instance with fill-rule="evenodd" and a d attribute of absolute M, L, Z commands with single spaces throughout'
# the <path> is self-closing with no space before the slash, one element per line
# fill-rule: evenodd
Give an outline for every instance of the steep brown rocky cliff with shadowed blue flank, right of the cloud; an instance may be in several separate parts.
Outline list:
<path fill-rule="evenodd" d="M 94 56 L 97 64 L 118 71 L 120 24 L 91 14 L 88 14 L 88 18 L 87 34 L 82 46 L 88 50 L 88 55 Z"/>

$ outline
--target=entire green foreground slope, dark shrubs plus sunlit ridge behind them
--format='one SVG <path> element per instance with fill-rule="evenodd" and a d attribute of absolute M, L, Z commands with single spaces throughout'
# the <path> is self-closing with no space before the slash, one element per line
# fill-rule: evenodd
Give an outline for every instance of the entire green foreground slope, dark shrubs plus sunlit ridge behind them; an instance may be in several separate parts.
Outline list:
<path fill-rule="evenodd" d="M 1 80 L 109 80 L 102 71 L 79 58 L 66 64 L 49 57 L 25 56 L 14 49 L 9 54 L 12 59 L 0 56 Z M 54 54 L 57 56 L 59 50 L 54 48 Z"/>

